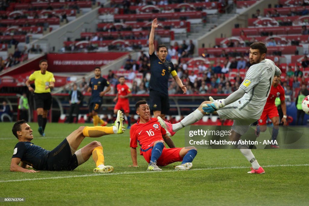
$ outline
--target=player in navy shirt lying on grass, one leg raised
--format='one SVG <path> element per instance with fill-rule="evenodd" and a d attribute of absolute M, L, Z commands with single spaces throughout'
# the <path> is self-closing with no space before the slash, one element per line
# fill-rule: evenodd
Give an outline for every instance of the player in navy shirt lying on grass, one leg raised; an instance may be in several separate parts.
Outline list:
<path fill-rule="evenodd" d="M 100 142 L 93 141 L 78 149 L 85 137 L 101 137 L 108 134 L 122 134 L 125 129 L 122 124 L 123 115 L 118 111 L 115 125 L 112 127 L 79 127 L 66 137 L 55 149 L 48 151 L 34 145 L 32 129 L 25 120 L 17 121 L 12 132 L 18 139 L 11 160 L 11 171 L 38 172 L 36 170 L 74 170 L 86 162 L 92 155 L 96 168 L 94 172 L 109 173 L 114 170 L 112 166 L 104 165 L 103 147 Z M 76 151 L 77 150 L 77 151 Z M 19 163 L 20 166 L 19 166 Z M 28 170 L 29 166 L 36 170 Z"/>

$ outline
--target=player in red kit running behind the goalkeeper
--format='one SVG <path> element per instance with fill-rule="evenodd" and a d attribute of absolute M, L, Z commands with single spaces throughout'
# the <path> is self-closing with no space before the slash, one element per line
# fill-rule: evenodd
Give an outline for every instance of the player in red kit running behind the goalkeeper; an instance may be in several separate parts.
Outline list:
<path fill-rule="evenodd" d="M 286 102 L 285 102 L 285 92 L 283 87 L 279 84 L 280 76 L 275 76 L 273 78 L 273 84 L 270 89 L 270 93 L 268 95 L 266 104 L 264 106 L 264 110 L 260 119 L 258 120 L 258 124 L 256 125 L 255 135 L 259 137 L 260 132 L 265 132 L 267 129 L 266 120 L 269 117 L 273 123 L 273 132 L 271 139 L 274 141 L 277 139 L 278 132 L 279 132 L 279 113 L 278 109 L 275 105 L 275 100 L 277 97 L 280 97 L 281 101 L 281 109 L 283 112 L 283 118 L 281 119 L 281 123 L 286 126 Z M 280 148 L 278 145 L 273 144 L 270 145 L 272 148 Z"/>

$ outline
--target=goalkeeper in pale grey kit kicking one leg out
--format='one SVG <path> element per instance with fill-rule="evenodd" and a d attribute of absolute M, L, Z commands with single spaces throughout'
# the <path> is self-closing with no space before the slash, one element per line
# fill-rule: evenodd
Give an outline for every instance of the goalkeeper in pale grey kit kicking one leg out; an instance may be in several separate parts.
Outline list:
<path fill-rule="evenodd" d="M 197 110 L 177 124 L 165 122 L 158 117 L 167 134 L 173 136 L 181 128 L 202 119 L 205 114 L 217 113 L 222 119 L 234 120 L 229 138 L 231 141 L 239 142 L 240 137 L 250 128 L 250 124 L 260 118 L 273 78 L 275 75 L 281 74 L 280 69 L 273 61 L 265 59 L 266 53 L 267 48 L 263 42 L 255 42 L 250 45 L 249 61 L 252 66 L 248 69 L 239 89 L 226 99 L 214 100 L 209 97 L 210 101 L 201 103 Z M 265 173 L 248 145 L 239 143 L 236 146 L 252 164 L 252 170 L 248 173 Z"/>

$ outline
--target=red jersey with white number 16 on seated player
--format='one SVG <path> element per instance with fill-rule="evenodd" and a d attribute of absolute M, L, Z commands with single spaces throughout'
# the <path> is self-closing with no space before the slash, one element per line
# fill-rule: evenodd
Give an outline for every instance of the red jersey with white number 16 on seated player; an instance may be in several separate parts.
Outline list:
<path fill-rule="evenodd" d="M 150 118 L 144 124 L 140 124 L 138 120 L 130 130 L 130 147 L 136 148 L 138 143 L 141 146 L 140 154 L 142 155 L 142 151 L 146 152 L 151 149 L 155 141 L 163 140 L 162 135 L 165 134 L 166 131 L 160 126 L 157 118 Z"/>

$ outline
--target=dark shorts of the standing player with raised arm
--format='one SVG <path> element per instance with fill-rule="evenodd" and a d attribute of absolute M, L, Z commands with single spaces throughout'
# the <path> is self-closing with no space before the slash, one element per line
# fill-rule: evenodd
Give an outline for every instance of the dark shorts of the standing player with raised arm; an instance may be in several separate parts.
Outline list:
<path fill-rule="evenodd" d="M 149 98 L 150 111 L 161 111 L 161 114 L 168 114 L 170 111 L 170 100 L 168 95 L 155 90 L 150 90 Z"/>

